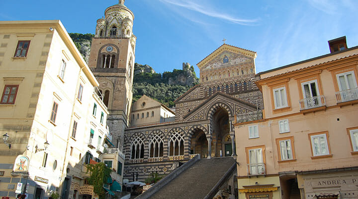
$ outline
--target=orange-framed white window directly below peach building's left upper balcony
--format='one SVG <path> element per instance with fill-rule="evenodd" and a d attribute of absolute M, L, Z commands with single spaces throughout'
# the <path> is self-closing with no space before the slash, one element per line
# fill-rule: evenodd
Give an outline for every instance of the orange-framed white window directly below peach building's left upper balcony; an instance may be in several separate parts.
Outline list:
<path fill-rule="evenodd" d="M 313 156 L 330 154 L 329 143 L 327 139 L 328 132 L 313 133 L 308 134 L 308 136 L 311 140 Z"/>

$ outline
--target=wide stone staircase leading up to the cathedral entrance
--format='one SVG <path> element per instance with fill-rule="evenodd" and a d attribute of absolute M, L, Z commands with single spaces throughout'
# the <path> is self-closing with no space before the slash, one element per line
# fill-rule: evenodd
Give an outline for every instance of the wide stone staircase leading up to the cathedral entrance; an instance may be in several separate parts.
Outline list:
<path fill-rule="evenodd" d="M 234 164 L 232 157 L 198 159 L 149 199 L 203 199 Z"/>

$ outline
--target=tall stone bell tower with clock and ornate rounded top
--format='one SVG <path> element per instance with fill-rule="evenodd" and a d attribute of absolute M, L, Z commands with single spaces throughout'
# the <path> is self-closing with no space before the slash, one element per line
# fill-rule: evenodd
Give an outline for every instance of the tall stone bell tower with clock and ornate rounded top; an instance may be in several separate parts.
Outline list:
<path fill-rule="evenodd" d="M 124 0 L 105 9 L 98 19 L 89 55 L 89 67 L 99 82 L 99 93 L 107 105 L 107 125 L 116 147 L 123 146 L 132 103 L 136 36 L 133 12 Z"/>

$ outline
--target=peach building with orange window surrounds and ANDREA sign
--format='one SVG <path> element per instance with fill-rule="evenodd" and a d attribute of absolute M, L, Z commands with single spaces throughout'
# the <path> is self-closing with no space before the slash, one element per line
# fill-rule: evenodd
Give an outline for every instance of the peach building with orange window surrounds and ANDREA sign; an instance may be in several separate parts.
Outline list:
<path fill-rule="evenodd" d="M 358 47 L 261 72 L 265 110 L 237 114 L 240 199 L 358 198 Z"/>

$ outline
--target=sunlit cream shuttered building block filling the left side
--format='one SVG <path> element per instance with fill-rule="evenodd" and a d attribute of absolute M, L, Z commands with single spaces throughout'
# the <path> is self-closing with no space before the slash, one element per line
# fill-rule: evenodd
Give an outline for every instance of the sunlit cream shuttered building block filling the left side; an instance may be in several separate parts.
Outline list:
<path fill-rule="evenodd" d="M 0 196 L 14 198 L 21 182 L 28 199 L 86 197 L 89 159 L 111 160 L 121 184 L 98 82 L 62 23 L 0 21 L 0 39 Z"/>

